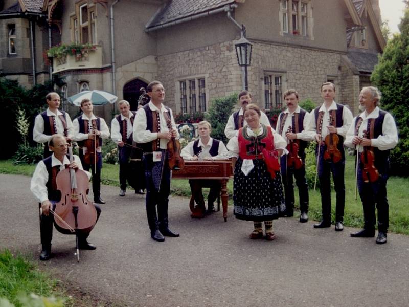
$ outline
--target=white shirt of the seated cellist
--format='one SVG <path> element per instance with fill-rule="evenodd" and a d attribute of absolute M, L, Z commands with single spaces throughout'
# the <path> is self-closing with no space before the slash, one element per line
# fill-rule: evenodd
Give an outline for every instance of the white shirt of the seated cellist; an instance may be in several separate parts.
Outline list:
<path fill-rule="evenodd" d="M 78 168 L 82 169 L 82 164 L 80 158 L 77 155 L 74 155 L 74 161 L 77 162 Z M 65 169 L 65 165 L 70 164 L 70 160 L 64 156 L 64 161 L 61 163 L 60 160 L 55 158 L 54 153 L 51 155 L 51 166 L 54 167 L 56 165 L 60 166 L 60 171 Z M 85 171 L 85 170 L 84 170 Z M 91 178 L 91 174 L 88 171 L 85 171 L 88 176 L 88 180 Z M 48 181 L 48 171 L 46 164 L 43 161 L 38 162 L 33 177 L 31 178 L 30 190 L 33 193 L 34 197 L 42 203 L 43 201 L 48 200 L 48 192 L 47 192 L 47 184 Z"/>

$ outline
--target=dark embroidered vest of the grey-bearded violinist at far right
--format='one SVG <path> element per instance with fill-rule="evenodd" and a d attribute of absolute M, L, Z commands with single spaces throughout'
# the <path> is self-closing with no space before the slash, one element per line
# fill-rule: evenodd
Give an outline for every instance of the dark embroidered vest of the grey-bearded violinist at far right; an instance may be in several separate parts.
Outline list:
<path fill-rule="evenodd" d="M 382 125 L 383 120 L 385 119 L 385 115 L 388 112 L 379 110 L 379 116 L 377 118 L 370 118 L 368 119 L 368 125 L 366 130 L 369 131 L 369 135 L 371 138 L 376 139 L 377 137 L 382 135 Z M 355 129 L 357 128 L 359 116 L 355 119 Z M 374 165 L 378 169 L 378 171 L 383 174 L 388 172 L 389 169 L 389 154 L 391 150 L 379 150 L 378 147 L 371 147 L 370 148 L 375 155 L 375 162 Z"/>

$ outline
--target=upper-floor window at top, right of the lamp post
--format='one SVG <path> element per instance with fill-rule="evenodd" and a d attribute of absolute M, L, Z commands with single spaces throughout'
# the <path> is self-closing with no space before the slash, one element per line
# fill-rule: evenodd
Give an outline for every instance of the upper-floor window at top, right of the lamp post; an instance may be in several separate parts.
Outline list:
<path fill-rule="evenodd" d="M 280 4 L 280 34 L 288 33 L 313 39 L 311 0 L 281 0 Z"/>

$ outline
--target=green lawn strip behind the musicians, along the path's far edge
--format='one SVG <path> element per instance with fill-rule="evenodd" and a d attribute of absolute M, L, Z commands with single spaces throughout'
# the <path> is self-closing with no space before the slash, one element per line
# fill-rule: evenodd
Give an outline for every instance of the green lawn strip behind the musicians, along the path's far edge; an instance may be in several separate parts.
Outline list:
<path fill-rule="evenodd" d="M 34 165 L 13 165 L 11 160 L 0 160 L 0 173 L 24 174 L 32 176 Z M 104 164 L 102 168 L 101 180 L 103 184 L 119 186 L 118 165 Z M 407 206 L 407 195 L 405 189 L 409 186 L 409 178 L 391 177 L 388 181 L 388 200 L 389 200 L 389 224 L 390 231 L 402 234 L 409 234 L 409 208 Z M 353 227 L 363 226 L 362 204 L 359 199 L 355 200 L 355 171 L 354 158 L 347 156 L 345 169 L 345 225 Z M 233 203 L 233 180 L 229 181 L 229 204 Z M 205 189 L 207 190 L 207 189 Z M 187 180 L 173 180 L 171 192 L 174 195 L 189 196 L 190 187 Z M 298 191 L 295 189 L 296 207 L 298 206 Z M 205 194 L 206 195 L 206 194 Z M 310 190 L 310 220 L 319 221 L 321 218 L 321 195 L 317 189 L 315 194 Z M 335 191 L 331 191 L 333 220 L 335 215 Z"/>

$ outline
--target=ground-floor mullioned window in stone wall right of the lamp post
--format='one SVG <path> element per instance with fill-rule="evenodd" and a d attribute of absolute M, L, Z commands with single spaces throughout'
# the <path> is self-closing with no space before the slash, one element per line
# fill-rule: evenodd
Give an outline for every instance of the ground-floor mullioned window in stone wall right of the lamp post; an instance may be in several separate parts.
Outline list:
<path fill-rule="evenodd" d="M 283 105 L 283 76 L 268 74 L 264 76 L 264 109 L 281 108 Z"/>

